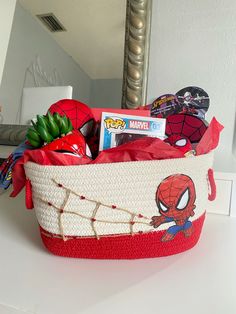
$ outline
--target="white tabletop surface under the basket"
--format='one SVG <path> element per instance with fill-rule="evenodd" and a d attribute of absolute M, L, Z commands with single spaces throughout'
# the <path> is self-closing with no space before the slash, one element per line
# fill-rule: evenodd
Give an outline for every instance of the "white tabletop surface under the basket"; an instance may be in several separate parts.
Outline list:
<path fill-rule="evenodd" d="M 23 197 L 0 195 L 1 314 L 235 314 L 236 219 L 208 214 L 198 245 L 165 258 L 47 253 Z"/>

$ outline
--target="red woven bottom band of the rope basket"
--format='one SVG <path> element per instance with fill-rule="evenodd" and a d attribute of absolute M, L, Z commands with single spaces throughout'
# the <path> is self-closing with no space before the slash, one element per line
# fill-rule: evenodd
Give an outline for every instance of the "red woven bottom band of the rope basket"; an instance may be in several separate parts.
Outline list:
<path fill-rule="evenodd" d="M 80 237 L 63 241 L 40 227 L 46 248 L 53 254 L 75 258 L 137 259 L 168 256 L 191 249 L 199 240 L 205 214 L 193 221 L 193 234 L 185 237 L 179 232 L 169 242 L 162 242 L 165 231 L 117 236 L 102 236 L 99 240 Z M 45 235 L 47 234 L 47 235 Z"/>

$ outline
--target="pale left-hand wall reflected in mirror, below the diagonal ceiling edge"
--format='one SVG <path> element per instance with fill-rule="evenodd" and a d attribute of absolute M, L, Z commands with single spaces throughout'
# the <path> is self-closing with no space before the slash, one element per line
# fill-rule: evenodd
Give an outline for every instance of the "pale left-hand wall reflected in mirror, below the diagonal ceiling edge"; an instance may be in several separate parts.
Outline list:
<path fill-rule="evenodd" d="M 7 12 L 4 12 L 6 15 Z M 5 25 L 3 26 L 5 30 Z M 57 70 L 62 79 L 60 85 L 73 86 L 73 98 L 89 103 L 90 78 L 79 65 L 61 49 L 41 25 L 18 3 L 12 25 L 5 68 L 0 86 L 0 103 L 4 123 L 17 123 L 21 104 L 25 72 L 36 56 L 49 76 Z M 25 86 L 35 86 L 33 77 L 27 74 Z"/>

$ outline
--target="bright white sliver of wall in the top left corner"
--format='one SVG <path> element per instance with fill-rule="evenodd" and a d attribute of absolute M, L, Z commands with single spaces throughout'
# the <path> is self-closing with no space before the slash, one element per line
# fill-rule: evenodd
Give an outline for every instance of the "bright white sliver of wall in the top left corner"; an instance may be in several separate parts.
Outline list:
<path fill-rule="evenodd" d="M 0 84 L 11 33 L 15 4 L 16 0 L 1 0 L 0 2 Z"/>

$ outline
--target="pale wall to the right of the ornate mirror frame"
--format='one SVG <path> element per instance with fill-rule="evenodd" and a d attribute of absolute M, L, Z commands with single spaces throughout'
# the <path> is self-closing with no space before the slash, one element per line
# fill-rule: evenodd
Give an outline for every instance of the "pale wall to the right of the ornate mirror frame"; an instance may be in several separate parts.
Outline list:
<path fill-rule="evenodd" d="M 148 102 L 185 86 L 205 89 L 212 116 L 225 126 L 218 170 L 236 170 L 236 1 L 153 0 Z"/>

